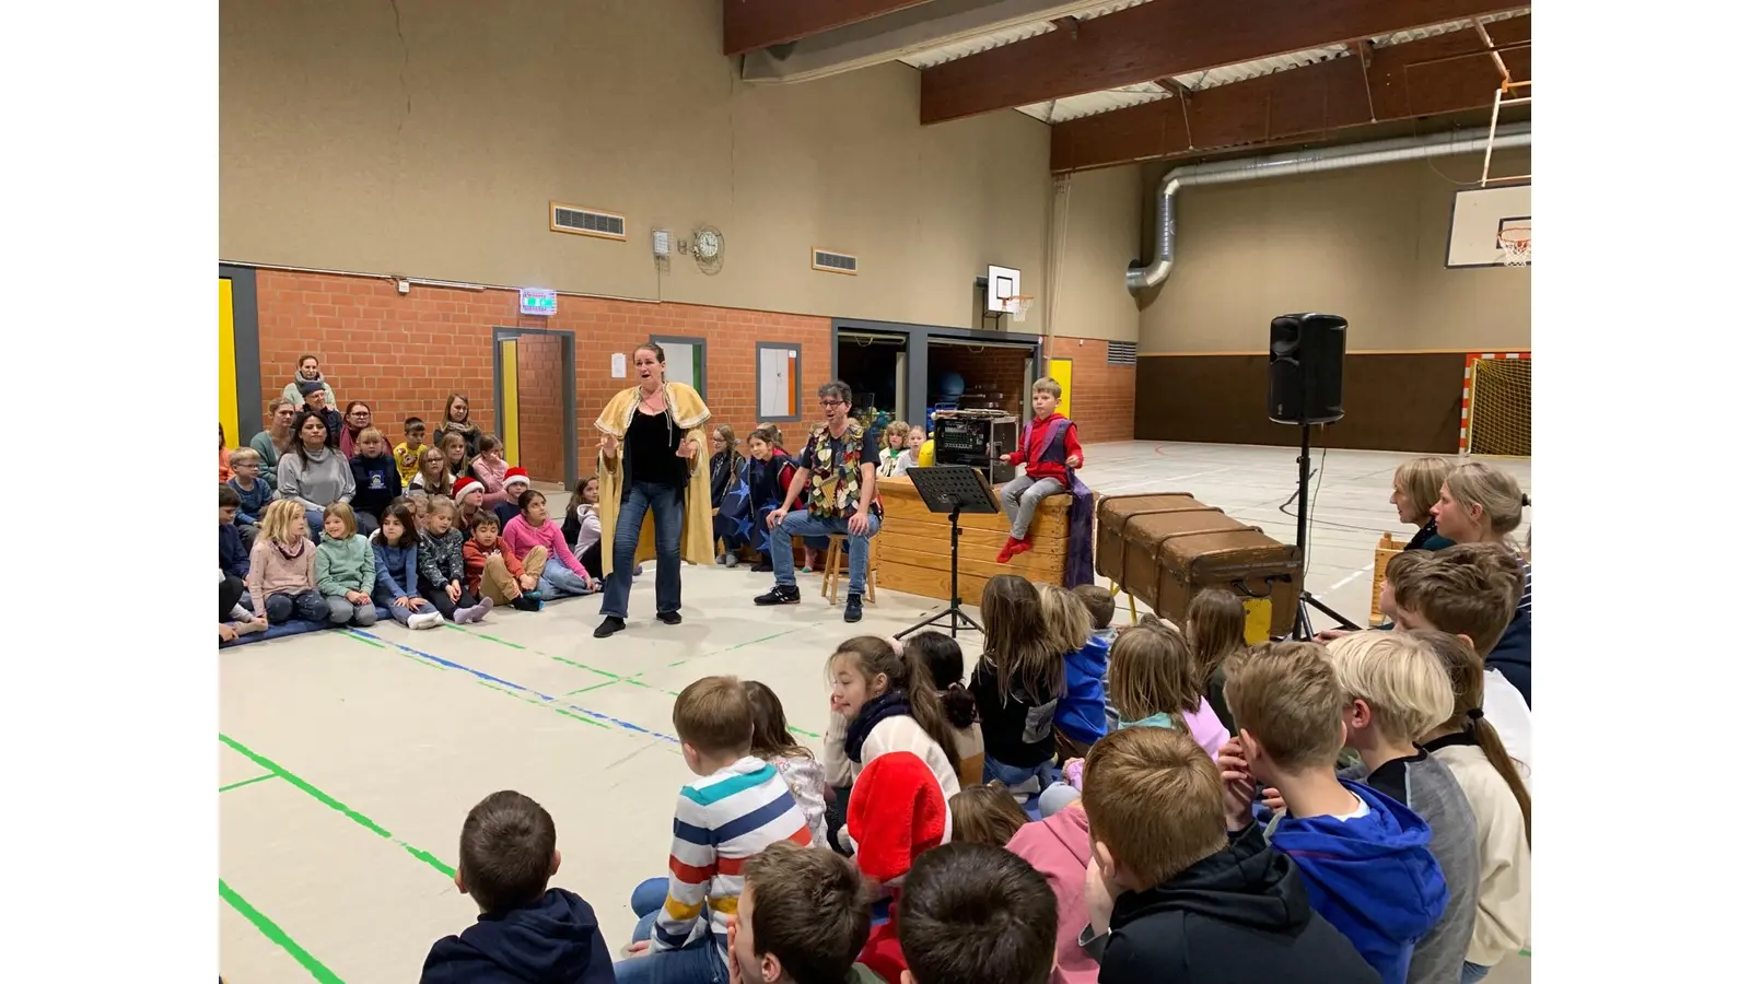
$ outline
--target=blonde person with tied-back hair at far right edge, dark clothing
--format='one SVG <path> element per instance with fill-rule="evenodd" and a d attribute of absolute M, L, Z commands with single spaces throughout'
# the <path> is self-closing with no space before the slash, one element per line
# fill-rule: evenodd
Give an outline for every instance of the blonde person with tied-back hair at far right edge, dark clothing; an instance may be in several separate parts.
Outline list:
<path fill-rule="evenodd" d="M 1465 462 L 1454 467 L 1440 487 L 1440 501 L 1433 504 L 1433 522 L 1440 536 L 1452 543 L 1498 543 L 1519 557 L 1519 545 L 1512 532 L 1524 520 L 1524 508 L 1531 497 L 1519 488 L 1512 474 L 1482 464 Z M 1531 564 L 1524 559 L 1519 566 L 1526 573 L 1526 590 L 1519 597 L 1519 609 L 1507 623 L 1507 632 L 1494 644 L 1486 665 L 1502 671 L 1524 695 L 1531 706 Z"/>

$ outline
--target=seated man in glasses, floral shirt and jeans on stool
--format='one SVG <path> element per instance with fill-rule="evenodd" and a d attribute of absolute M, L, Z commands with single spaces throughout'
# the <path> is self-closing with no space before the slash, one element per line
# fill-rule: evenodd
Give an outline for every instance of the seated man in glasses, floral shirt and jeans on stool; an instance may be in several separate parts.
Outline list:
<path fill-rule="evenodd" d="M 870 538 L 880 531 L 880 499 L 875 496 L 875 464 L 880 459 L 880 432 L 850 418 L 850 387 L 833 380 L 817 390 L 826 422 L 808 432 L 808 445 L 794 459 L 796 476 L 789 481 L 784 504 L 766 517 L 772 529 L 772 574 L 777 585 L 754 604 L 798 604 L 793 536 L 845 534 L 850 553 L 850 592 L 845 597 L 845 622 L 863 618 L 863 585 L 870 569 Z M 803 494 L 808 511 L 791 513 L 789 504 Z"/>

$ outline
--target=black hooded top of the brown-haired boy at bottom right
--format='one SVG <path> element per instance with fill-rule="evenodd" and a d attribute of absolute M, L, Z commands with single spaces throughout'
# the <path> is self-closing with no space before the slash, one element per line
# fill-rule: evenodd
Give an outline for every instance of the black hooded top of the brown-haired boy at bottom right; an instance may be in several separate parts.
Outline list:
<path fill-rule="evenodd" d="M 1379 973 L 1307 903 L 1288 854 L 1248 826 L 1148 891 L 1113 902 L 1101 984 L 1377 984 Z"/>

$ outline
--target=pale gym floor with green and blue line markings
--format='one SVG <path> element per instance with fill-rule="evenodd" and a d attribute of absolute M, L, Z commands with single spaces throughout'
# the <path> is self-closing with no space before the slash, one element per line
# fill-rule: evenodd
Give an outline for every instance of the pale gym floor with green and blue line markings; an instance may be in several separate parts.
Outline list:
<path fill-rule="evenodd" d="M 1146 441 L 1090 445 L 1104 494 L 1190 492 L 1293 541 L 1295 450 Z M 1363 622 L 1388 503 L 1409 455 L 1334 450 L 1314 467 L 1309 588 Z M 1498 460 L 1530 488 L 1530 460 Z M 551 811 L 556 886 L 628 938 L 632 888 L 662 875 L 676 790 L 674 693 L 707 674 L 761 679 L 798 737 L 826 730 L 824 660 L 849 634 L 892 634 L 940 602 L 880 590 L 849 627 L 803 576 L 803 604 L 760 609 L 768 574 L 686 567 L 686 622 L 654 620 L 653 573 L 628 630 L 598 641 L 593 597 L 544 613 L 410 632 L 394 623 L 224 650 L 219 657 L 220 968 L 233 984 L 397 980 L 478 914 L 450 877 L 469 807 L 520 790 Z M 1120 599 L 1122 601 L 1122 599 Z M 1124 622 L 1127 615 L 1120 615 Z M 1323 622 L 1320 623 L 1323 627 Z M 962 636 L 976 651 L 976 636 Z M 486 697 L 492 692 L 495 697 Z M 1512 958 L 1489 980 L 1530 979 Z"/>

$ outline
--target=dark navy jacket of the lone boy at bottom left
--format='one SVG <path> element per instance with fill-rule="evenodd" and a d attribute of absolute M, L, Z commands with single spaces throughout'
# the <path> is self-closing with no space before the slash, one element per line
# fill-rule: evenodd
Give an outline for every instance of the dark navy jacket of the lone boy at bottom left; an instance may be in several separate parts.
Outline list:
<path fill-rule="evenodd" d="M 420 984 L 614 984 L 614 958 L 590 903 L 551 888 L 432 944 Z"/>

